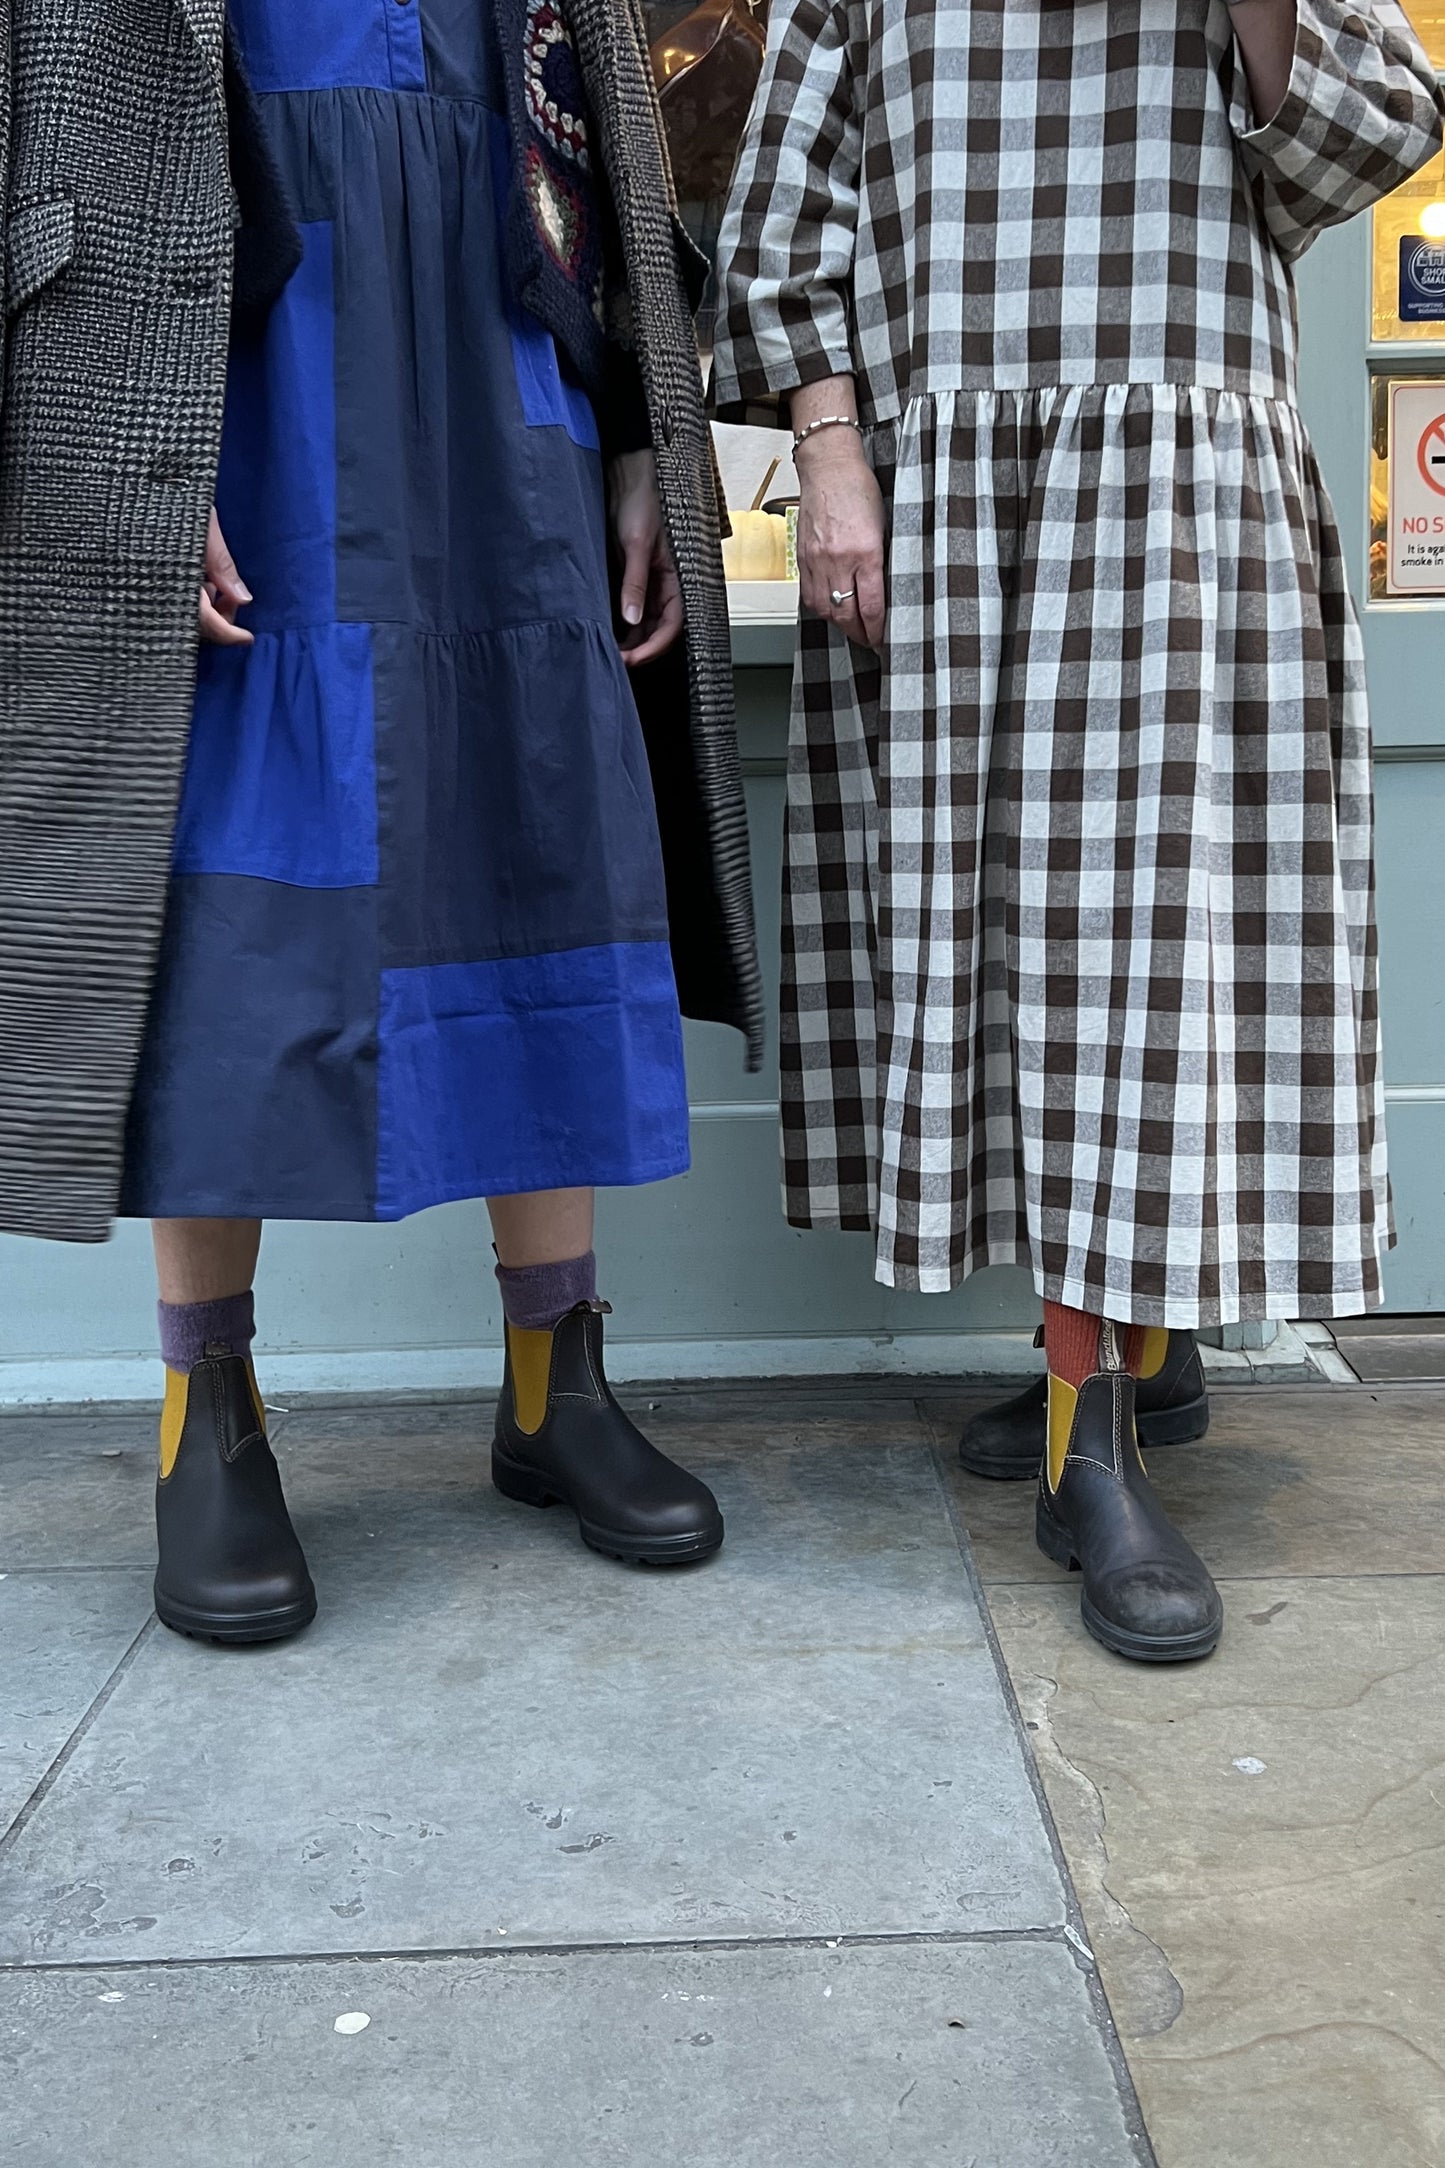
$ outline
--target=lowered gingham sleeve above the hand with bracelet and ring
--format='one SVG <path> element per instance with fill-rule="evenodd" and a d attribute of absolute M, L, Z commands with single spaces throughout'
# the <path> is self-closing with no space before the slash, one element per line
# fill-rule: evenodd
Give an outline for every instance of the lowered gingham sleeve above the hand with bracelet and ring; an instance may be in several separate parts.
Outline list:
<path fill-rule="evenodd" d="M 860 0 L 778 0 L 717 243 L 719 412 L 854 369 Z"/>

